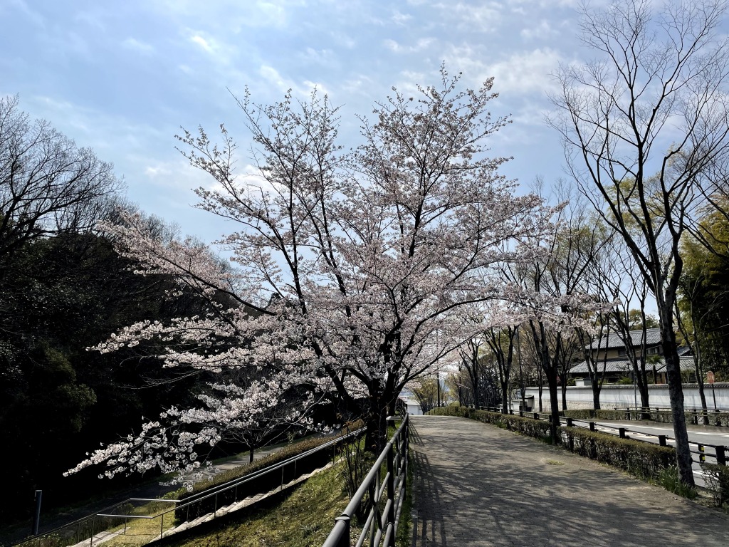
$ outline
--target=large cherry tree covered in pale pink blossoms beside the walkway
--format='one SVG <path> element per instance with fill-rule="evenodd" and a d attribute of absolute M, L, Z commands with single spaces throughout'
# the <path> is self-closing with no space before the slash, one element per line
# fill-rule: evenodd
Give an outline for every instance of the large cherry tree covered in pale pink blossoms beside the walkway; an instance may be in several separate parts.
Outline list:
<path fill-rule="evenodd" d="M 131 325 L 98 349 L 155 339 L 167 366 L 255 375 L 217 384 L 225 397 L 206 400 L 205 410 L 166 413 L 187 426 L 176 437 L 155 421 L 89 462 L 120 470 L 149 444 L 135 465 L 179 465 L 182 451 L 195 454 L 195 443 L 245 427 L 292 392 L 307 395 L 286 419 L 303 419 L 324 397 L 364 416 L 368 446 L 382 446 L 405 384 L 483 331 L 464 325 L 459 309 L 507 298 L 501 265 L 531 256 L 524 244 L 553 230 L 553 209 L 520 195 L 498 172 L 506 158 L 486 153 L 488 137 L 508 123 L 488 112 L 491 79 L 470 90 L 441 75 L 412 95 L 393 89 L 372 120 L 360 118 L 362 144 L 351 152 L 338 144 L 339 112 L 326 97 L 289 93 L 265 106 L 246 93 L 238 105 L 254 176 L 238 173 L 238 145 L 224 125 L 219 144 L 202 128 L 179 136 L 184 156 L 214 181 L 197 190 L 198 206 L 237 227 L 219 241 L 235 268 L 192 241 L 147 237 L 134 217 L 106 225 L 139 273 L 172 276 L 211 306 L 204 317 Z M 510 322 L 498 311 L 485 317 Z"/>

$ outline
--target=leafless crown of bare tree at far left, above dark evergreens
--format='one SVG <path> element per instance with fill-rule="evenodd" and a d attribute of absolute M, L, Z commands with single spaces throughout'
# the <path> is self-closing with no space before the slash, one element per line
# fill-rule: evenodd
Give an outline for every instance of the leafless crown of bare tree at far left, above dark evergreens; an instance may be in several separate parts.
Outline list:
<path fill-rule="evenodd" d="M 0 276 L 26 241 L 93 228 L 121 188 L 111 163 L 0 98 Z"/>

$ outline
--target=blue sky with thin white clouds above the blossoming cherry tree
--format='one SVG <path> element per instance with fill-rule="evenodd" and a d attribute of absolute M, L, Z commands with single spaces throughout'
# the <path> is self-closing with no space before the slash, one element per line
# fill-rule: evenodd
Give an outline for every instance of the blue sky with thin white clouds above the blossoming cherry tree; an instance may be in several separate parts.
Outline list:
<path fill-rule="evenodd" d="M 593 4 L 601 2 L 593 1 Z M 572 0 L 0 0 L 0 95 L 92 147 L 149 213 L 212 241 L 230 230 L 195 203 L 211 185 L 174 149 L 183 126 L 241 144 L 230 92 L 254 101 L 313 87 L 342 105 L 343 144 L 394 85 L 437 82 L 440 63 L 476 87 L 495 78 L 493 115 L 513 123 L 492 141 L 502 169 L 529 185 L 562 176 L 557 134 L 543 122 L 558 63 L 586 58 Z M 228 91 L 230 89 L 230 92 Z"/>

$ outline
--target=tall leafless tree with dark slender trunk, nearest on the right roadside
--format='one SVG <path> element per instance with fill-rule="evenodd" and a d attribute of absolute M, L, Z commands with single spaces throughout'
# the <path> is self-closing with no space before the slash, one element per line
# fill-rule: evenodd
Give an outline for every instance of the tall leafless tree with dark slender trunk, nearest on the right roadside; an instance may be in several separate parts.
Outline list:
<path fill-rule="evenodd" d="M 658 304 L 682 482 L 693 485 L 674 303 L 679 239 L 701 206 L 698 177 L 729 147 L 726 1 L 583 5 L 582 43 L 598 59 L 561 66 L 560 114 L 572 176 L 625 244 Z M 605 206 L 607 205 L 607 209 Z"/>

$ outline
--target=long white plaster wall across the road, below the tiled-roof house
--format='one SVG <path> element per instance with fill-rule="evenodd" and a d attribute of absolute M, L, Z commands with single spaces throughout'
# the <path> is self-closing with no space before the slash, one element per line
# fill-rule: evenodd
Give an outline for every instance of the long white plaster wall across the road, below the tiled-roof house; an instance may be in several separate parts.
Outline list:
<path fill-rule="evenodd" d="M 686 408 L 701 408 L 701 397 L 698 395 L 696 384 L 684 384 L 684 406 Z M 709 410 L 714 409 L 714 395 L 716 397 L 716 408 L 729 409 L 729 383 L 714 384 L 704 387 L 706 395 L 706 406 Z M 567 408 L 594 408 L 592 388 L 590 386 L 569 386 L 567 387 Z M 534 397 L 534 408 L 539 408 L 539 388 L 527 387 L 526 397 Z M 670 408 L 668 400 L 668 386 L 666 384 L 655 384 L 648 386 L 648 397 L 650 406 L 654 408 Z M 561 408 L 561 390 L 559 392 Z M 637 402 L 637 405 L 636 405 Z M 542 389 L 542 408 L 545 410 L 550 406 L 549 391 Z M 603 386 L 600 392 L 600 406 L 602 408 L 628 408 L 640 406 L 640 393 L 633 386 Z"/>

